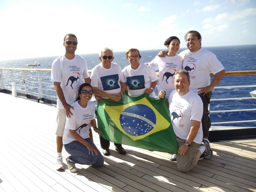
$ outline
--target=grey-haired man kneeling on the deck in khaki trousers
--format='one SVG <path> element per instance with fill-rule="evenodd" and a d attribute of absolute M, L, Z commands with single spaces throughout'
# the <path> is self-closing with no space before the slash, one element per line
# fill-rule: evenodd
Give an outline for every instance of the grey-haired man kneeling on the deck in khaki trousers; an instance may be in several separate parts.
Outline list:
<path fill-rule="evenodd" d="M 175 73 L 175 90 L 171 92 L 167 104 L 171 115 L 178 154 L 176 155 L 178 170 L 190 171 L 197 165 L 201 154 L 212 156 L 208 143 L 201 145 L 203 130 L 201 118 L 203 103 L 200 97 L 190 90 L 190 75 L 188 71 L 179 70 Z M 164 98 L 165 92 L 159 92 L 159 98 Z M 209 158 L 211 159 L 211 158 Z"/>

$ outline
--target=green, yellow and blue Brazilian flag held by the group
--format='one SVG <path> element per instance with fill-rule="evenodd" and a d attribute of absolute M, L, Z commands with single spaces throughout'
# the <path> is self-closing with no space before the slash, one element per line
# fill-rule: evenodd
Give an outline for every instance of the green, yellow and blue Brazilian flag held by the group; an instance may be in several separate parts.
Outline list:
<path fill-rule="evenodd" d="M 125 92 L 119 102 L 103 100 L 98 101 L 97 122 L 106 140 L 151 151 L 178 152 L 165 99 L 148 94 L 129 97 Z"/>

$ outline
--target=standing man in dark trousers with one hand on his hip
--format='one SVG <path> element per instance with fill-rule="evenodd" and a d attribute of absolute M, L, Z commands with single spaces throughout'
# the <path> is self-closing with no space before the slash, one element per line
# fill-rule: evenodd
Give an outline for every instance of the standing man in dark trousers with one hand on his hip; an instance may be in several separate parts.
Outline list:
<path fill-rule="evenodd" d="M 211 100 L 211 90 L 218 85 L 225 74 L 225 69 L 220 61 L 209 50 L 201 47 L 201 34 L 198 31 L 188 31 L 185 34 L 188 50 L 181 52 L 179 55 L 183 57 L 183 69 L 190 73 L 190 90 L 196 92 L 203 101 L 204 112 L 202 117 L 203 126 L 203 142 L 208 143 L 209 129 L 211 120 L 209 117 L 209 104 Z M 159 53 L 159 57 L 166 55 L 166 52 Z M 213 73 L 213 81 L 211 81 L 210 72 Z M 209 157 L 206 157 L 209 158 Z M 175 157 L 170 158 L 175 161 Z"/>

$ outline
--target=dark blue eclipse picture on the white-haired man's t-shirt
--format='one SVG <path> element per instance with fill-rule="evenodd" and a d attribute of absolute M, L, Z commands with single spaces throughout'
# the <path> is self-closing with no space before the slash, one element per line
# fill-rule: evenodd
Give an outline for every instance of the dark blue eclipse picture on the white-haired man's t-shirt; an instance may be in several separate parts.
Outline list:
<path fill-rule="evenodd" d="M 120 86 L 118 84 L 118 81 L 119 81 L 118 74 L 104 76 L 104 77 L 101 77 L 100 80 L 101 80 L 102 87 L 103 87 L 104 91 L 120 88 Z"/>

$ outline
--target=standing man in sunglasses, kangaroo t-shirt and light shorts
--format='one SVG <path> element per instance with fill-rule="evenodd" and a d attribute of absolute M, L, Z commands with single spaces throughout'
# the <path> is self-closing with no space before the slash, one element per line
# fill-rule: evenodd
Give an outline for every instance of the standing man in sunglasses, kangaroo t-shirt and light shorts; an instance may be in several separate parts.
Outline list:
<path fill-rule="evenodd" d="M 77 38 L 74 34 L 64 36 L 63 46 L 65 54 L 59 56 L 52 63 L 51 80 L 57 94 L 57 164 L 56 170 L 63 170 L 62 161 L 62 136 L 66 123 L 66 117 L 73 115 L 70 109 L 71 104 L 76 101 L 79 85 L 83 82 L 90 83 L 87 62 L 80 55 L 75 55 Z"/>

